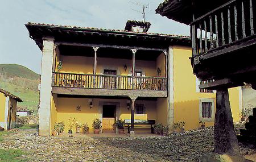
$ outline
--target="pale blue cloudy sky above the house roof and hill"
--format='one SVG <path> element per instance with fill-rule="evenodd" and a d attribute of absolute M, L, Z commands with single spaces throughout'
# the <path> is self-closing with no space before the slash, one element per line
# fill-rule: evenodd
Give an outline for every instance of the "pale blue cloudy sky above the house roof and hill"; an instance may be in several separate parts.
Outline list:
<path fill-rule="evenodd" d="M 189 36 L 189 27 L 155 14 L 164 0 L 0 0 L 0 64 L 20 64 L 40 74 L 42 51 L 28 37 L 28 22 L 124 30 L 127 20 L 151 22 L 148 32 Z"/>

